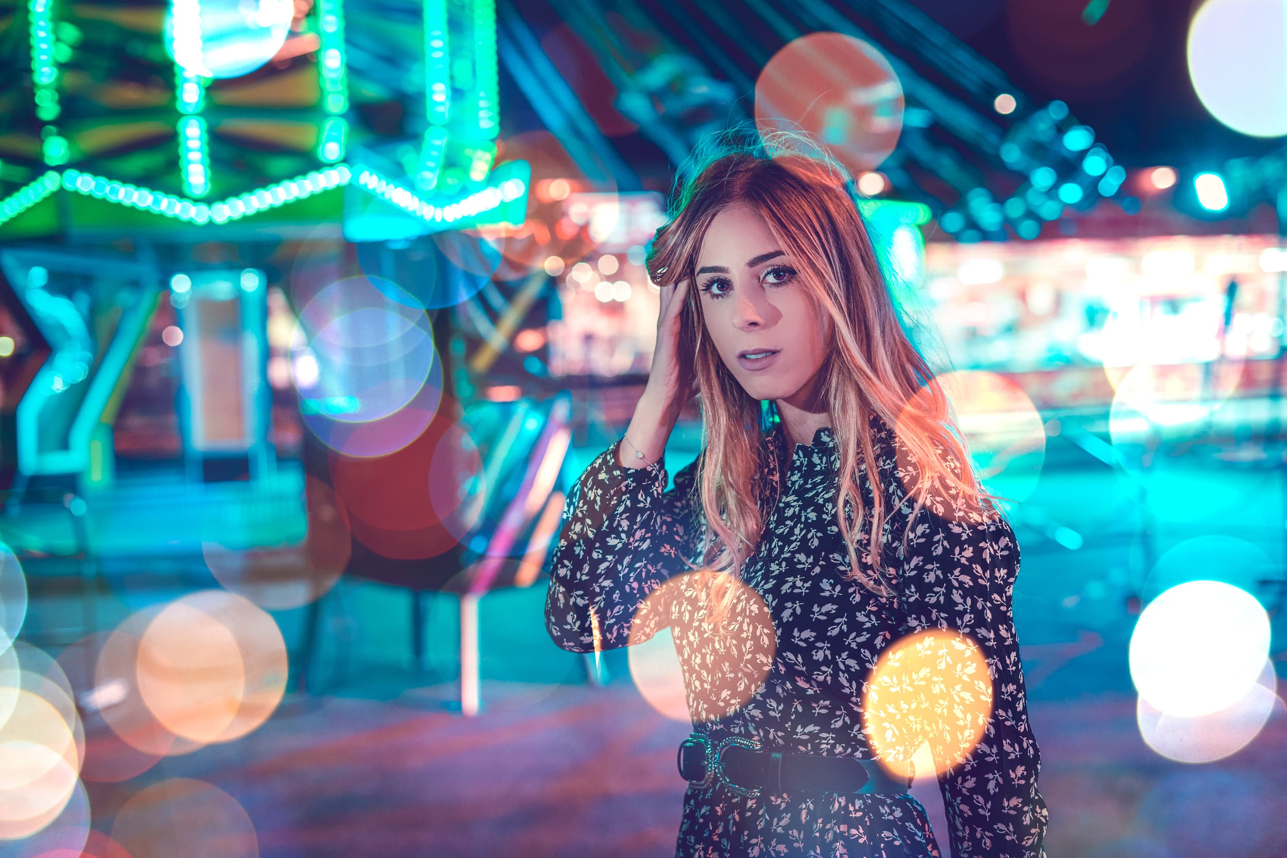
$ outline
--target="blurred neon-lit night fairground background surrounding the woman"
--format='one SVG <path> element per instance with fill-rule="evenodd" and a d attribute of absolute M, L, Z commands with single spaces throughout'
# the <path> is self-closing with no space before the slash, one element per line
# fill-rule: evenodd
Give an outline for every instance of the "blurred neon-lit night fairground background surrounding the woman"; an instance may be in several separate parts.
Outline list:
<path fill-rule="evenodd" d="M 0 0 L 0 858 L 674 854 L 669 630 L 571 653 L 542 614 L 653 367 L 680 165 L 735 126 L 847 171 L 1004 497 L 1040 854 L 1287 854 L 1284 32 Z M 705 443 L 689 401 L 668 477 Z M 996 809 L 937 780 L 946 857 Z M 956 858 L 1037 854 L 1003 840 Z M 799 849 L 745 854 L 858 854 Z"/>

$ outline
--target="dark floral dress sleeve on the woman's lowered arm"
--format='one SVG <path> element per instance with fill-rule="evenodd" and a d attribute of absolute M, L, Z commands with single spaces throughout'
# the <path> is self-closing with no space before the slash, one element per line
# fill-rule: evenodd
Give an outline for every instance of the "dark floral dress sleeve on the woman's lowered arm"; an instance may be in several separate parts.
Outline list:
<path fill-rule="evenodd" d="M 954 459 L 949 467 L 960 473 Z M 900 472 L 896 490 L 907 477 Z M 912 508 L 912 499 L 903 498 L 902 509 L 910 513 Z M 906 518 L 898 520 L 891 534 L 894 543 L 901 542 L 903 525 Z M 907 551 L 900 545 L 898 554 L 898 599 L 906 611 L 902 633 L 960 632 L 977 642 L 991 674 L 991 714 L 973 750 L 960 759 L 959 750 L 955 755 L 945 750 L 959 742 L 959 735 L 942 735 L 940 741 L 931 736 L 952 855 L 1045 858 L 1049 812 L 1037 790 L 1041 753 L 1028 724 L 1014 632 L 1013 588 L 1019 571 L 1014 531 L 994 509 L 969 512 L 946 491 L 934 490 L 911 522 Z M 946 733 L 950 728 L 943 727 Z"/>

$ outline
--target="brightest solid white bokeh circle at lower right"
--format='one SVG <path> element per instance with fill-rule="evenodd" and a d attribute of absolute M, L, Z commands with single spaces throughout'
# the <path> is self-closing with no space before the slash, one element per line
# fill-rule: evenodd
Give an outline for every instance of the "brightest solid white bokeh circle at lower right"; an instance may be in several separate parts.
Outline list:
<path fill-rule="evenodd" d="M 1269 657 L 1269 616 L 1254 596 L 1198 580 L 1161 593 L 1130 639 L 1130 675 L 1154 709 L 1207 715 L 1241 700 Z"/>

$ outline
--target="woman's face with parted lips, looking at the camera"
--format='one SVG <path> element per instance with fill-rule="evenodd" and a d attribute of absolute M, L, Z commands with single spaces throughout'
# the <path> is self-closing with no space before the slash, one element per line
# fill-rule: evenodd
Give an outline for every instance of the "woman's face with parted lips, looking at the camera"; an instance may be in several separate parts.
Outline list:
<path fill-rule="evenodd" d="M 694 286 L 707 334 L 743 388 L 806 406 L 826 358 L 830 319 L 759 214 L 736 205 L 716 215 Z"/>

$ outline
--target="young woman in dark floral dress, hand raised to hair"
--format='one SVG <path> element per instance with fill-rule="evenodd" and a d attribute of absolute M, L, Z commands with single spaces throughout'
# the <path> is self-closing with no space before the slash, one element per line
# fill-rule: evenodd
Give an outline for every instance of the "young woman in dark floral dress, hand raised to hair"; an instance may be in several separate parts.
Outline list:
<path fill-rule="evenodd" d="M 647 257 L 649 382 L 568 499 L 547 628 L 577 652 L 671 628 L 694 722 L 676 855 L 940 855 L 906 760 L 878 762 L 876 740 L 903 736 L 931 749 L 956 858 L 1041 857 L 1014 533 L 903 332 L 852 181 L 789 143 L 725 135 L 680 174 Z M 668 491 L 694 388 L 705 448 Z M 990 677 L 941 659 L 875 711 L 882 655 L 927 629 Z"/>

